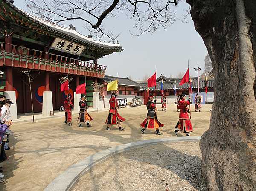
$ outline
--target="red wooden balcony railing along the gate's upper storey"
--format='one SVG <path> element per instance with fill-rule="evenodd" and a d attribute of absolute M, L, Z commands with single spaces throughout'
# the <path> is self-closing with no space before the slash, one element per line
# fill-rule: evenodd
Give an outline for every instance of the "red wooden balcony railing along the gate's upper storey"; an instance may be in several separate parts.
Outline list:
<path fill-rule="evenodd" d="M 104 78 L 107 69 L 100 64 L 0 42 L 0 66 L 3 65 L 99 78 Z"/>

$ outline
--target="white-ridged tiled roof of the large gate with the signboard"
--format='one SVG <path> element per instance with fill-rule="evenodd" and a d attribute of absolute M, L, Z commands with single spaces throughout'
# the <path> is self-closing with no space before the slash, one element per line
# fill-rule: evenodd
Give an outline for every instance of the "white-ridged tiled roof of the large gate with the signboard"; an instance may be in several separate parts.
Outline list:
<path fill-rule="evenodd" d="M 21 14 L 22 16 L 26 17 L 27 19 L 31 20 L 34 23 L 37 23 L 40 26 L 43 26 L 45 29 L 48 29 L 49 31 L 52 31 L 53 33 L 58 33 L 56 36 L 61 36 L 63 38 L 68 38 L 70 40 L 73 39 L 74 41 L 84 44 L 84 45 L 89 45 L 94 48 L 100 48 L 100 49 L 105 49 L 110 52 L 118 52 L 122 51 L 122 46 L 120 44 L 112 44 L 112 43 L 103 43 L 99 41 L 95 41 L 92 38 L 89 38 L 87 36 L 84 36 L 80 34 L 79 32 L 76 32 L 73 29 L 63 27 L 57 24 L 50 23 L 47 20 L 43 20 L 41 18 L 35 17 L 34 15 L 27 13 L 21 9 L 18 9 L 16 6 L 14 6 L 12 3 L 9 2 L 9 0 L 1 0 L 3 3 L 6 3 L 9 5 L 14 11 L 17 13 Z M 17 16 L 17 14 L 16 14 Z"/>

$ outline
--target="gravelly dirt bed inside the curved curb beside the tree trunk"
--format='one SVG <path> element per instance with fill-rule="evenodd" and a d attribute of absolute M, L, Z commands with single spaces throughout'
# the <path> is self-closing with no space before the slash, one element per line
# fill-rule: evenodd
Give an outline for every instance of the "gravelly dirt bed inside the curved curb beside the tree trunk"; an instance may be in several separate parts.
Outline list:
<path fill-rule="evenodd" d="M 199 142 L 137 148 L 97 164 L 73 191 L 198 191 L 201 161 Z"/>

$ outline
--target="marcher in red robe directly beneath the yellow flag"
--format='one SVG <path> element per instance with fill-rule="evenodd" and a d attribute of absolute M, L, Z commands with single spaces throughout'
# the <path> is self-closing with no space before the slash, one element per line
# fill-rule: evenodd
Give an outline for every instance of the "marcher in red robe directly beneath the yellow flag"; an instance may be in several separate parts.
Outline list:
<path fill-rule="evenodd" d="M 125 118 L 119 115 L 117 108 L 118 108 L 118 103 L 117 103 L 117 94 L 116 92 L 112 92 L 111 97 L 109 99 L 109 113 L 108 117 L 106 120 L 107 124 L 107 130 L 110 130 L 110 127 L 112 127 L 114 124 L 119 127 L 119 130 L 124 130 L 125 127 L 121 127 L 121 122 L 125 121 Z"/>

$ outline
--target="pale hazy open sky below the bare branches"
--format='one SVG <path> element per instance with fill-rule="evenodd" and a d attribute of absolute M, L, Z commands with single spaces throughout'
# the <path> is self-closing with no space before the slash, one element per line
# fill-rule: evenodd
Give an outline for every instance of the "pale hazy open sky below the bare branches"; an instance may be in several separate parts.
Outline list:
<path fill-rule="evenodd" d="M 15 6 L 27 12 L 29 10 L 24 5 L 23 0 L 15 0 Z M 195 31 L 194 23 L 189 15 L 188 23 L 182 22 L 182 14 L 188 9 L 189 5 L 185 1 L 180 3 L 174 9 L 178 18 L 174 24 L 167 29 L 159 28 L 153 34 L 144 33 L 132 36 L 134 21 L 130 20 L 125 14 L 119 17 L 110 17 L 104 21 L 108 29 L 113 30 L 116 34 L 120 33 L 118 40 L 124 50 L 113 53 L 98 60 L 98 64 L 107 66 L 106 74 L 116 76 L 119 72 L 120 77 L 131 76 L 133 80 L 142 80 L 145 75 L 153 75 L 157 65 L 157 76 L 160 74 L 169 77 L 176 77 L 179 72 L 186 72 L 187 61 L 189 60 L 190 74 L 196 76 L 197 73 L 192 67 L 204 68 L 204 57 L 207 49 L 198 32 Z M 69 23 L 62 23 L 68 26 Z M 83 28 L 81 21 L 73 22 L 76 31 L 88 35 L 89 32 Z M 103 42 L 108 38 L 102 38 Z"/>

